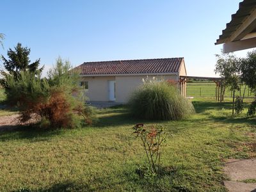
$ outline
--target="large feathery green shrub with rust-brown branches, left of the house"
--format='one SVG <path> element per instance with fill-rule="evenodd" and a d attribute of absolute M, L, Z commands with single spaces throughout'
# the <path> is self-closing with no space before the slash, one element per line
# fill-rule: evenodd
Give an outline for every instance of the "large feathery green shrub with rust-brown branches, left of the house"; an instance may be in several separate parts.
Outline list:
<path fill-rule="evenodd" d="M 79 116 L 83 116 L 92 124 L 92 109 L 80 97 L 79 75 L 70 69 L 68 61 L 58 58 L 48 79 L 29 71 L 21 71 L 17 79 L 13 74 L 5 76 L 7 101 L 19 106 L 22 121 L 36 114 L 41 117 L 42 128 L 72 128 L 81 125 Z"/>

